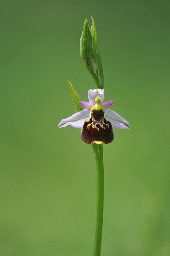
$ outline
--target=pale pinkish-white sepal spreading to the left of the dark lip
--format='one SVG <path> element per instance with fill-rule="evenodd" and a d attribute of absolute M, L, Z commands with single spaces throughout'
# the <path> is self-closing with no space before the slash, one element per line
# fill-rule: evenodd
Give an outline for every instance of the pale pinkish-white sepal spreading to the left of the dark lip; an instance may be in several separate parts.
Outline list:
<path fill-rule="evenodd" d="M 89 115 L 90 111 L 88 109 L 83 109 L 72 116 L 62 119 L 59 123 L 59 128 L 66 127 L 67 125 L 71 125 L 74 128 L 82 128 Z"/>

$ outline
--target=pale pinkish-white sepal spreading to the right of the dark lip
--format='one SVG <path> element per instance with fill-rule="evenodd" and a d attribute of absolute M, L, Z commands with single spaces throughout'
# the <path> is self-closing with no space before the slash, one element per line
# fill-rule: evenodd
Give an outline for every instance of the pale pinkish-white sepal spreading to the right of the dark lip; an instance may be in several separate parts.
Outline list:
<path fill-rule="evenodd" d="M 122 116 L 120 116 L 119 114 L 117 114 L 116 112 L 114 112 L 111 109 L 106 109 L 105 118 L 109 119 L 111 125 L 114 128 L 119 128 L 119 129 L 129 129 L 130 128 L 129 122 L 125 118 L 123 118 Z"/>

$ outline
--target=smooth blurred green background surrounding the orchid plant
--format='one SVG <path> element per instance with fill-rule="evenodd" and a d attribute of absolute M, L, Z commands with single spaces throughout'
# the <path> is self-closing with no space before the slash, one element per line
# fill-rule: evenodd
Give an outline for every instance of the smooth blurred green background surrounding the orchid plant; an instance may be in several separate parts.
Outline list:
<path fill-rule="evenodd" d="M 95 83 L 79 56 L 95 18 L 105 100 L 130 130 L 104 145 L 102 256 L 170 255 L 170 2 L 0 1 L 0 255 L 92 255 L 95 163 L 58 128 Z"/>

